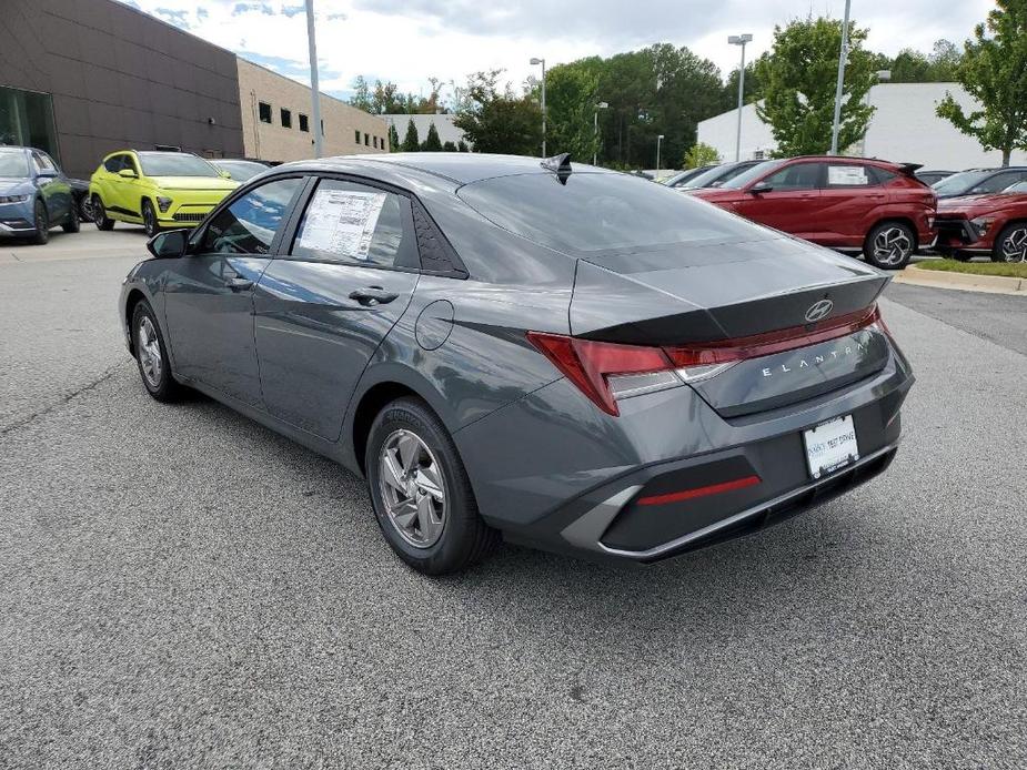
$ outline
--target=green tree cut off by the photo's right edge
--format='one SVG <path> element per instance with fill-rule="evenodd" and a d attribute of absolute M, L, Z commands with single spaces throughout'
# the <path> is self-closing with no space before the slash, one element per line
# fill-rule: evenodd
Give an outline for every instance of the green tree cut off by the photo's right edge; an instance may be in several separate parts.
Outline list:
<path fill-rule="evenodd" d="M 996 4 L 956 68 L 956 80 L 980 108 L 967 113 L 948 93 L 937 111 L 985 150 L 1000 150 L 1009 165 L 1014 150 L 1027 150 L 1027 0 Z"/>

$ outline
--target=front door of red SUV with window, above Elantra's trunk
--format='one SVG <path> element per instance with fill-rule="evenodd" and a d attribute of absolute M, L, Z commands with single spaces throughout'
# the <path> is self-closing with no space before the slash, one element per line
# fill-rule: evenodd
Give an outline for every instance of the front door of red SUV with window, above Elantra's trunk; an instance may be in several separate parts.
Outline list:
<path fill-rule="evenodd" d="M 813 240 L 819 229 L 820 180 L 824 164 L 787 163 L 748 188 L 737 213 L 761 224 Z M 758 186 L 766 192 L 759 192 Z"/>

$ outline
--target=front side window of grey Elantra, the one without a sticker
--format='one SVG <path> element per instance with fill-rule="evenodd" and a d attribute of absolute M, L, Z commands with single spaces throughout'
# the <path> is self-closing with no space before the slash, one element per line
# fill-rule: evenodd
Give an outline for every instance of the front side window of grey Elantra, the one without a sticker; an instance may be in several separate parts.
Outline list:
<path fill-rule="evenodd" d="M 233 201 L 207 225 L 200 253 L 263 255 L 270 252 L 271 242 L 302 184 L 302 179 L 280 179 Z"/>

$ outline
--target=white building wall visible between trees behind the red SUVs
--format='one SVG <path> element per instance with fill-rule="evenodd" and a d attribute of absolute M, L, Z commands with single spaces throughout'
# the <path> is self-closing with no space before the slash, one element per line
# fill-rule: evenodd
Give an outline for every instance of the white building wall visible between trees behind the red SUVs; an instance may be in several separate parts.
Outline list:
<path fill-rule="evenodd" d="M 848 154 L 882 158 L 900 163 L 920 163 L 927 169 L 960 171 L 1001 165 L 1001 153 L 985 152 L 973 136 L 960 133 L 935 109 L 950 92 L 964 110 L 976 109 L 975 100 L 958 83 L 880 83 L 870 89 L 869 103 L 877 108 L 864 142 Z M 698 141 L 712 145 L 722 160 L 735 159 L 737 110 L 725 112 L 698 125 Z M 768 125 L 746 104 L 742 113 L 742 159 L 769 154 L 776 146 Z M 1027 153 L 1014 152 L 1013 163 L 1027 165 Z"/>

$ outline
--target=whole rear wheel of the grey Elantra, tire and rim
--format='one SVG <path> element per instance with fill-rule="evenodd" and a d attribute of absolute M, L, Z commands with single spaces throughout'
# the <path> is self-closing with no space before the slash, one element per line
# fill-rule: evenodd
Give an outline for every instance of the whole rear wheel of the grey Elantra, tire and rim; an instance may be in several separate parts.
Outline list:
<path fill-rule="evenodd" d="M 401 398 L 374 419 L 365 456 L 371 500 L 389 545 L 425 575 L 465 569 L 499 544 L 482 520 L 452 437 L 426 404 Z"/>

